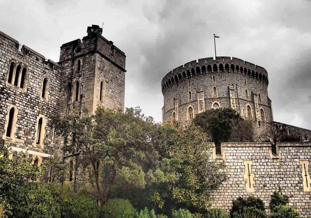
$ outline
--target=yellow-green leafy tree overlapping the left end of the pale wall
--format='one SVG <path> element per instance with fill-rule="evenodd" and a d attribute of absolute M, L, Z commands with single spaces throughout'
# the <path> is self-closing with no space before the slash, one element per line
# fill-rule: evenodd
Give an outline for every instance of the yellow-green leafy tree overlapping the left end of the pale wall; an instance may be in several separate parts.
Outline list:
<path fill-rule="evenodd" d="M 153 200 L 166 214 L 172 208 L 187 208 L 193 213 L 204 213 L 209 207 L 213 190 L 226 181 L 225 164 L 211 160 L 211 148 L 207 146 L 207 135 L 195 125 L 181 128 L 164 128 L 166 144 L 162 149 L 163 172 L 176 172 L 172 178 L 157 187 Z"/>

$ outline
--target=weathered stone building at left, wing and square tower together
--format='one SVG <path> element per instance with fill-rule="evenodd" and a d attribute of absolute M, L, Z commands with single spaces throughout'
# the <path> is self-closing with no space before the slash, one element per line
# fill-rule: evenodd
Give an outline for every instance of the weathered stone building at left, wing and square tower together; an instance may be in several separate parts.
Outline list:
<path fill-rule="evenodd" d="M 88 27 L 82 41 L 61 46 L 55 63 L 0 31 L 0 134 L 13 151 L 29 149 L 39 162 L 60 152 L 63 141 L 49 127 L 57 112 L 124 110 L 126 56 L 101 33 Z"/>

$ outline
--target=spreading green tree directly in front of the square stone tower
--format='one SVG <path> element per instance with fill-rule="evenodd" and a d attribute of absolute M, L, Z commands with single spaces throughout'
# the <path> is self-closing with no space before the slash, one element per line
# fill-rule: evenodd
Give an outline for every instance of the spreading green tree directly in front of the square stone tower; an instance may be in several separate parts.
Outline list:
<path fill-rule="evenodd" d="M 64 151 L 80 152 L 75 185 L 99 202 L 117 189 L 145 188 L 157 165 L 157 124 L 139 108 L 122 113 L 99 107 L 93 115 L 55 116 L 51 125 L 66 139 Z"/>

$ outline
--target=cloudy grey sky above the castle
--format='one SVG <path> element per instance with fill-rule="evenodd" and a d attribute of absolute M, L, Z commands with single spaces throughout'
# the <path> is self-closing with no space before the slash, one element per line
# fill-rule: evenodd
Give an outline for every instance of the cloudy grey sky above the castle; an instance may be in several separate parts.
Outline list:
<path fill-rule="evenodd" d="M 123 50 L 125 106 L 161 121 L 162 77 L 188 61 L 234 56 L 265 67 L 274 119 L 311 129 L 310 0 L 0 0 L 0 30 L 54 61 L 104 22 Z"/>

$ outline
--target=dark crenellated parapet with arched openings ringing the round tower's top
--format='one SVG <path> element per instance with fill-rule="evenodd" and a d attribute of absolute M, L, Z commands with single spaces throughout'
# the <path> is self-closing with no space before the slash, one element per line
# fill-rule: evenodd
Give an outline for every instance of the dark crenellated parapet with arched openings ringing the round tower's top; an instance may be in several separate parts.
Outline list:
<path fill-rule="evenodd" d="M 234 72 L 258 80 L 268 85 L 268 72 L 265 68 L 234 57 L 201 58 L 185 63 L 168 72 L 162 79 L 162 92 L 174 83 L 187 80 L 200 74 Z"/>

